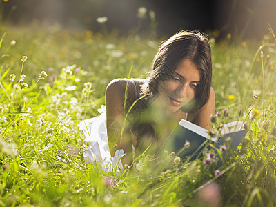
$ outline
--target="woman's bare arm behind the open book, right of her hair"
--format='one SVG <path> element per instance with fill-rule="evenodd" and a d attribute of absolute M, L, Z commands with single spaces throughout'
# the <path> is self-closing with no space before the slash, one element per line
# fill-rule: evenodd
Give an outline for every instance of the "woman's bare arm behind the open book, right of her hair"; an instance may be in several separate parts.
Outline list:
<path fill-rule="evenodd" d="M 215 92 L 213 88 L 210 90 L 210 97 L 207 103 L 199 110 L 198 115 L 195 118 L 195 124 L 206 128 L 207 130 L 212 130 L 212 124 L 210 121 L 211 115 L 215 115 Z"/>

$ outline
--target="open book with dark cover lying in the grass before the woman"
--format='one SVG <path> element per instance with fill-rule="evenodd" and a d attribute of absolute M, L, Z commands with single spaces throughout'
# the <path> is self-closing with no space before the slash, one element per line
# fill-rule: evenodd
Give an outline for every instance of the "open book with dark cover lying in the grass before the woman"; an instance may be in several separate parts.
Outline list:
<path fill-rule="evenodd" d="M 181 158 L 189 156 L 192 161 L 200 156 L 204 148 L 210 149 L 210 146 L 219 149 L 224 145 L 226 148 L 235 150 L 247 133 L 247 130 L 241 130 L 241 128 L 241 121 L 230 122 L 224 124 L 219 134 L 217 132 L 215 137 L 210 137 L 205 128 L 181 119 L 156 156 L 162 157 L 165 151 L 175 152 L 175 155 Z"/>

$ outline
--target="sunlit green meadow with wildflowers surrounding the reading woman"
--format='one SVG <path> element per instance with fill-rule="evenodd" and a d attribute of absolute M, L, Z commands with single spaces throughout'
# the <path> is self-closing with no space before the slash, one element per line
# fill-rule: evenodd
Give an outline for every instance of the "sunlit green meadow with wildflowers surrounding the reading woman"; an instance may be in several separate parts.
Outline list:
<path fill-rule="evenodd" d="M 240 120 L 248 128 L 222 166 L 215 158 L 156 160 L 145 152 L 123 172 L 83 158 L 79 121 L 100 114 L 112 79 L 146 77 L 166 37 L 58 25 L 10 26 L 0 35 L 0 206 L 276 205 L 272 30 L 244 41 L 208 33 L 214 127 Z"/>

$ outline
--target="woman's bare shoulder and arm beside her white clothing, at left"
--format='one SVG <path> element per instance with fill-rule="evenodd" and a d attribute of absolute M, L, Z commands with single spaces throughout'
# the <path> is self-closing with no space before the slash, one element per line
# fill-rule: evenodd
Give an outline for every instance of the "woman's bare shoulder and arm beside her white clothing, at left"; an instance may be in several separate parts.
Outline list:
<path fill-rule="evenodd" d="M 116 150 L 123 149 L 126 155 L 122 161 L 130 165 L 132 163 L 132 139 L 128 127 L 126 126 L 124 133 L 121 133 L 124 126 L 124 99 L 127 83 L 127 79 L 115 79 L 106 87 L 106 127 L 111 155 L 114 156 Z M 128 83 L 126 103 L 131 99 L 133 90 L 131 85 Z"/>

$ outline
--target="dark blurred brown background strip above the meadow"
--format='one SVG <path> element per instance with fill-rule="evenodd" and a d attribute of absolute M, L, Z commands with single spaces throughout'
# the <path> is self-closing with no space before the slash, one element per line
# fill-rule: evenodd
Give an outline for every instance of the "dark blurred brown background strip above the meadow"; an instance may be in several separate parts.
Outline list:
<path fill-rule="evenodd" d="M 1 0 L 3 1 L 3 0 Z M 3 2 L 2 2 L 3 3 Z M 10 23 L 60 23 L 68 28 L 100 29 L 97 17 L 108 17 L 108 30 L 128 31 L 137 26 L 141 6 L 156 14 L 159 34 L 181 29 L 220 30 L 241 38 L 262 37 L 268 23 L 276 27 L 275 0 L 9 0 L 3 3 Z M 16 10 L 9 15 L 12 7 Z M 147 13 L 140 30 L 150 28 Z"/>

